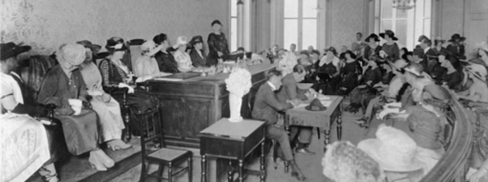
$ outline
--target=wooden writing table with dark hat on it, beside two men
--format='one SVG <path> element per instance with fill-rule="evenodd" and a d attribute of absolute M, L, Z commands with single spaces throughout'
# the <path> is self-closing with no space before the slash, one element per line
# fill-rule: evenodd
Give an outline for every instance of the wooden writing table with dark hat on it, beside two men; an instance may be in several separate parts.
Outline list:
<path fill-rule="evenodd" d="M 342 100 L 340 96 L 326 96 L 330 101 L 325 111 L 309 111 L 305 107 L 288 109 L 285 112 L 285 129 L 289 131 L 290 125 L 319 127 L 324 130 L 325 146 L 330 142 L 330 126 L 337 121 L 337 138 L 342 138 Z M 325 151 L 325 147 L 324 147 Z"/>

